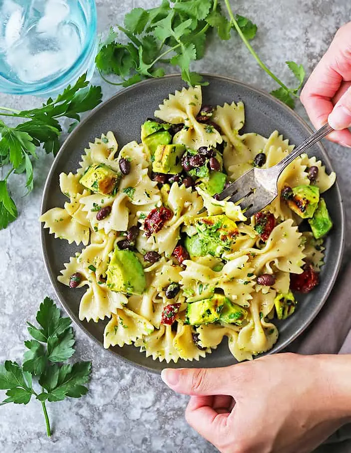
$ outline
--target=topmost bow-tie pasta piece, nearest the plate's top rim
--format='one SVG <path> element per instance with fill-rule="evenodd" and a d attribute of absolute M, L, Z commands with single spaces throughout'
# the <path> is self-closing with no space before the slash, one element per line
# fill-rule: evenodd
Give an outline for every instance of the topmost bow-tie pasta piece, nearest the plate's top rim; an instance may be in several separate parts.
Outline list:
<path fill-rule="evenodd" d="M 184 123 L 184 128 L 174 136 L 173 143 L 181 143 L 191 149 L 216 146 L 223 141 L 220 133 L 213 126 L 196 120 L 201 105 L 201 86 L 183 88 L 182 91 L 170 94 L 169 98 L 159 105 L 155 117 L 171 124 Z"/>

